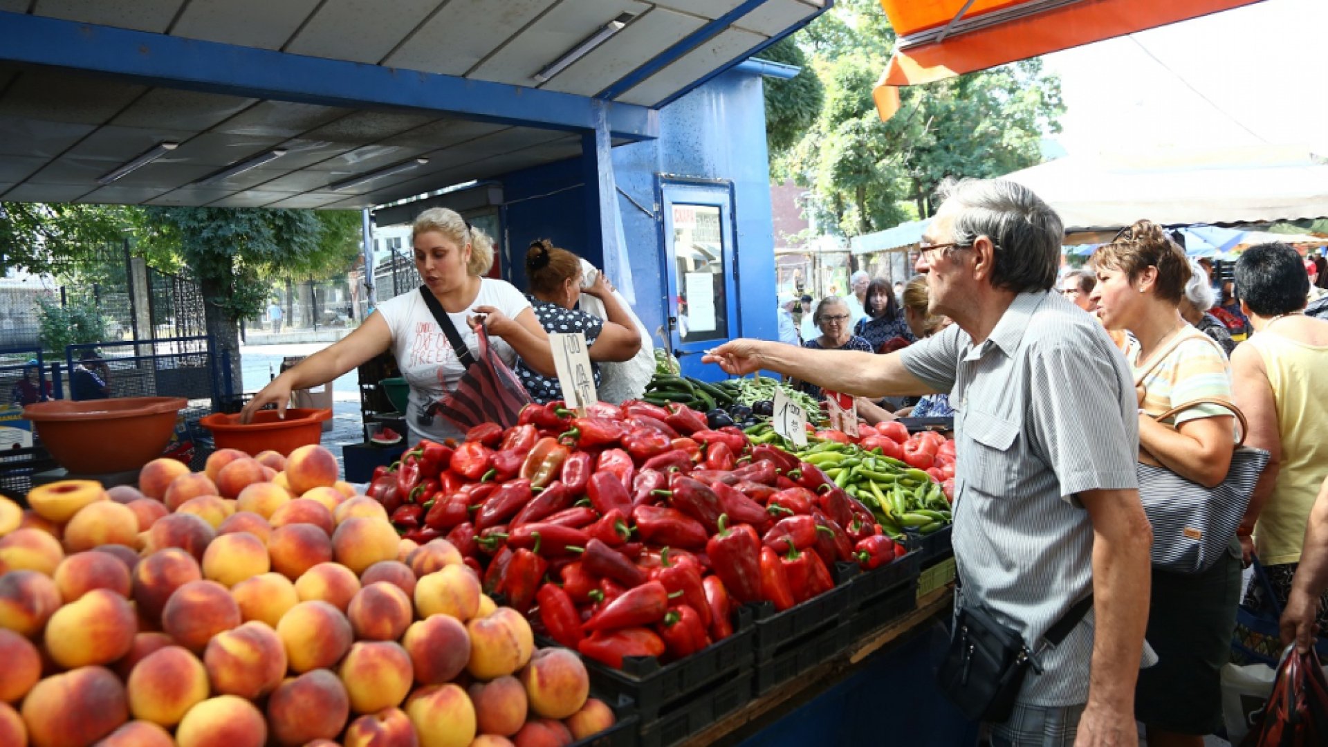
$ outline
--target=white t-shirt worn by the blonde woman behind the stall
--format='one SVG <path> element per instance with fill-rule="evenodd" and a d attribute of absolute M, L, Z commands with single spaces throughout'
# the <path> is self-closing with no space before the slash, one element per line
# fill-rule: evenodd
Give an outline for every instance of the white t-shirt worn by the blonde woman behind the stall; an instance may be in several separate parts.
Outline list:
<path fill-rule="evenodd" d="M 470 354 L 478 358 L 479 339 L 467 323 L 477 306 L 493 306 L 515 319 L 518 314 L 530 308 L 530 300 L 506 280 L 481 278 L 475 300 L 465 311 L 448 314 L 462 342 L 470 348 Z M 438 322 L 425 304 L 424 296 L 414 290 L 380 303 L 377 310 L 392 330 L 392 355 L 397 359 L 401 375 L 410 384 L 409 412 L 405 413 L 410 443 L 414 444 L 420 439 L 459 439 L 463 433 L 445 417 L 437 412 L 429 415 L 429 405 L 441 400 L 445 392 L 454 391 L 466 370 L 457 359 L 448 335 L 438 327 Z M 503 363 L 515 366 L 517 351 L 511 350 L 511 346 L 495 336 L 490 336 L 489 340 Z"/>

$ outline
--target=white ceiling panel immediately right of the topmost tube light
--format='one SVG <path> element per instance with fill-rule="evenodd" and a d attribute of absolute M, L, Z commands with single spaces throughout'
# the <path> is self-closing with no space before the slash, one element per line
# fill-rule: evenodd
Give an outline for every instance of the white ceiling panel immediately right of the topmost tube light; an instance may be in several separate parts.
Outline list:
<path fill-rule="evenodd" d="M 656 8 L 633 20 L 540 88 L 595 96 L 639 68 L 641 60 L 655 58 L 704 25 L 704 19 Z"/>

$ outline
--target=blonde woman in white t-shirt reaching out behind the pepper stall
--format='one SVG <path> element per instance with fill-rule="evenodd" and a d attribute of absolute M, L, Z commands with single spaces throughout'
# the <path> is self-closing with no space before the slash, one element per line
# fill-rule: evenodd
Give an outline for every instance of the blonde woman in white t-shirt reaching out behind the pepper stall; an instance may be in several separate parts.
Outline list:
<path fill-rule="evenodd" d="M 291 391 L 327 384 L 390 350 L 410 384 L 406 413 L 410 443 L 463 436 L 434 408 L 456 389 L 465 367 L 429 311 L 424 292 L 442 304 L 471 355 L 479 352 L 475 327 L 483 324 L 503 363 L 514 366 L 521 356 L 533 370 L 555 374 L 548 335 L 530 302 L 511 283 L 483 276 L 493 266 L 494 253 L 487 234 L 452 210 L 433 207 L 416 218 L 410 242 L 424 287 L 380 303 L 377 314 L 371 314 L 356 331 L 274 379 L 244 407 L 243 423 L 266 404 L 284 411 Z"/>

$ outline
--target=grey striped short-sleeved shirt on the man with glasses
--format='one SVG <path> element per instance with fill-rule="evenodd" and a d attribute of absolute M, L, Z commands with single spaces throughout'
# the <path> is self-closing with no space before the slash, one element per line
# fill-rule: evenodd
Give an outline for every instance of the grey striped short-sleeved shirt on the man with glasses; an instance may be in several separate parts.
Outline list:
<path fill-rule="evenodd" d="M 1133 380 L 1096 319 L 1053 292 L 1021 294 L 973 346 L 954 324 L 903 351 L 955 408 L 955 561 L 981 605 L 1035 649 L 1093 586 L 1093 525 L 1077 493 L 1138 488 Z M 1019 703 L 1088 700 L 1093 613 L 1041 654 Z M 1151 662 L 1147 662 L 1151 663 Z"/>

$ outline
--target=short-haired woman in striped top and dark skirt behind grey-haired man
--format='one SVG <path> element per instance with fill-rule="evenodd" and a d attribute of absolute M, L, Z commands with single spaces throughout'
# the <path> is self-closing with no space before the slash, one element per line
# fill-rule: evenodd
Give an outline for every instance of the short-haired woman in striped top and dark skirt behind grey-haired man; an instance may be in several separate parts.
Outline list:
<path fill-rule="evenodd" d="M 1201 485 L 1227 476 L 1235 444 L 1231 413 L 1198 405 L 1166 423 L 1155 417 L 1199 399 L 1231 401 L 1226 352 L 1181 316 L 1190 279 L 1185 253 L 1139 221 L 1093 254 L 1092 298 L 1108 330 L 1130 338 L 1125 356 L 1139 396 L 1139 448 Z M 1227 661 L 1240 593 L 1240 545 L 1197 574 L 1153 569 L 1147 641 L 1158 663 L 1139 671 L 1134 711 L 1153 747 L 1203 743 L 1222 723 L 1219 673 Z"/>

